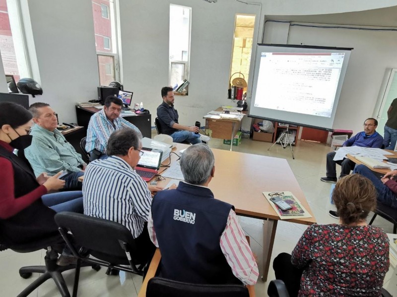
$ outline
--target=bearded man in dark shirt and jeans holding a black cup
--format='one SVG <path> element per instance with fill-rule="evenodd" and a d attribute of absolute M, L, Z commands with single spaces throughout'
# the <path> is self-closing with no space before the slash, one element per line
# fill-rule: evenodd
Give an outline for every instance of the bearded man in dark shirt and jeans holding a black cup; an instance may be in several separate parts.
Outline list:
<path fill-rule="evenodd" d="M 174 142 L 183 143 L 185 141 L 192 145 L 201 143 L 201 137 L 206 137 L 203 141 L 209 141 L 205 135 L 195 134 L 199 132 L 199 127 L 184 126 L 178 123 L 178 111 L 174 108 L 174 92 L 170 87 L 161 89 L 163 103 L 157 107 L 157 118 L 159 120 L 162 134 L 170 135 Z"/>

